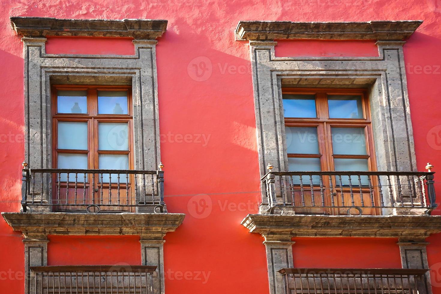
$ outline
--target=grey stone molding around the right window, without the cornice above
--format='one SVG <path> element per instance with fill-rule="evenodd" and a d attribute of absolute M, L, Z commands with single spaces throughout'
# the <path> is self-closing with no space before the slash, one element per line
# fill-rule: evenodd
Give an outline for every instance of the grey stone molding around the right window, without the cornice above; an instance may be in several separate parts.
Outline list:
<path fill-rule="evenodd" d="M 378 41 L 378 56 L 366 57 L 277 57 L 276 44 L 250 41 L 261 177 L 268 164 L 274 166 L 274 171 L 288 170 L 281 88 L 291 80 L 311 80 L 314 83 L 307 86 L 312 87 L 326 84 L 328 88 L 369 89 L 377 170 L 415 171 L 404 42 Z M 317 85 L 321 82 L 323 85 Z M 263 193 L 260 212 L 265 213 L 268 208 Z"/>

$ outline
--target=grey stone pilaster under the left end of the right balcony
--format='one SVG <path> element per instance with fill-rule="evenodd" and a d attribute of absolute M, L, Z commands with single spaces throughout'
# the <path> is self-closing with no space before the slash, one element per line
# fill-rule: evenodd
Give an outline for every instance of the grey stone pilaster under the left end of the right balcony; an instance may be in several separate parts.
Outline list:
<path fill-rule="evenodd" d="M 284 278 L 278 273 L 282 268 L 292 268 L 292 244 L 291 236 L 287 235 L 263 235 L 265 237 L 266 261 L 268 263 L 268 279 L 270 294 L 284 294 Z"/>

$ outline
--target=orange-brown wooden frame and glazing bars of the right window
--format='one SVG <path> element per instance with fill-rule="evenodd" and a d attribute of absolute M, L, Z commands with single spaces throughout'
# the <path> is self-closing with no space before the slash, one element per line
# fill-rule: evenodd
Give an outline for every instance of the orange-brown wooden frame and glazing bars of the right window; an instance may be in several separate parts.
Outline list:
<path fill-rule="evenodd" d="M 288 153 L 288 157 L 320 158 L 322 171 L 334 171 L 335 158 L 367 159 L 369 171 L 376 171 L 372 121 L 370 118 L 369 94 L 366 89 L 336 89 L 336 88 L 282 88 L 283 94 L 309 94 L 315 96 L 316 118 L 285 117 L 285 127 L 317 127 L 319 154 Z M 359 95 L 363 105 L 363 119 L 329 118 L 327 95 Z M 366 155 L 333 154 L 331 127 L 364 127 L 366 139 Z M 329 179 L 324 177 L 325 186 Z M 375 186 L 374 179 L 373 185 Z M 366 189 L 366 188 L 363 188 Z M 377 197 L 376 205 L 379 203 Z M 329 205 L 329 204 L 327 204 Z M 328 212 L 329 209 L 327 209 Z M 340 214 L 334 210 L 334 214 Z M 363 208 L 363 214 L 377 214 L 377 209 Z"/>

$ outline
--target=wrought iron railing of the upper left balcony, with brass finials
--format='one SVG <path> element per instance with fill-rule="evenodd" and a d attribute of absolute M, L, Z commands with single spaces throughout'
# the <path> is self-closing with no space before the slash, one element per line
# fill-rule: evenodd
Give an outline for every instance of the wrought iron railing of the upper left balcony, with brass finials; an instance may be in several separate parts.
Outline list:
<path fill-rule="evenodd" d="M 164 212 L 164 171 L 27 168 L 22 207 L 69 212 Z"/>

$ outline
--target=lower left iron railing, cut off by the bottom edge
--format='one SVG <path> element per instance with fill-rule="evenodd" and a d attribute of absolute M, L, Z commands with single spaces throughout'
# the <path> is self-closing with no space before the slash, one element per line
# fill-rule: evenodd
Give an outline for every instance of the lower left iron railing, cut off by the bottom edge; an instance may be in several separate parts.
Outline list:
<path fill-rule="evenodd" d="M 153 294 L 156 266 L 80 265 L 30 267 L 30 293 Z"/>

